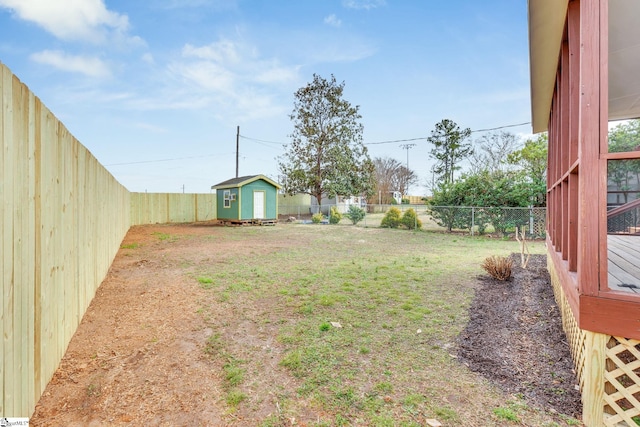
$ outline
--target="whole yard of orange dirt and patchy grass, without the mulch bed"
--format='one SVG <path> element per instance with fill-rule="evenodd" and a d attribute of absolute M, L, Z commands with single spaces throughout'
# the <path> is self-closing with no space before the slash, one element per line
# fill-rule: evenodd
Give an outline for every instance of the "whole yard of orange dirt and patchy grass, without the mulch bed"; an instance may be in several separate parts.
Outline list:
<path fill-rule="evenodd" d="M 31 420 L 578 425 L 456 358 L 481 262 L 518 247 L 348 224 L 132 227 Z"/>

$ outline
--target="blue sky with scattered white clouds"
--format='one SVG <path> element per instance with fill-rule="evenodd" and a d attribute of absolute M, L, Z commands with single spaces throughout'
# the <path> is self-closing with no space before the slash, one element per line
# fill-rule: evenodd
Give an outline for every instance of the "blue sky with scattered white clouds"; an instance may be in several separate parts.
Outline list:
<path fill-rule="evenodd" d="M 318 74 L 428 194 L 441 120 L 531 135 L 527 36 L 525 0 L 0 0 L 0 62 L 135 192 L 234 178 L 238 126 L 239 175 L 278 181 Z"/>

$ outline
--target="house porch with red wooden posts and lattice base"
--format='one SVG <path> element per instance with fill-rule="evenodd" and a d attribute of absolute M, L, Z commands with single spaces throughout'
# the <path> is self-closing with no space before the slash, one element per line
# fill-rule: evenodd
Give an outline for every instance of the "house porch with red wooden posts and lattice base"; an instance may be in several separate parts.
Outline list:
<path fill-rule="evenodd" d="M 549 132 L 548 269 L 586 426 L 640 416 L 640 236 L 608 234 L 608 123 L 640 117 L 640 1 L 529 0 L 532 124 Z M 610 181 L 609 181 L 610 182 Z M 635 198 L 634 198 L 635 199 Z"/>

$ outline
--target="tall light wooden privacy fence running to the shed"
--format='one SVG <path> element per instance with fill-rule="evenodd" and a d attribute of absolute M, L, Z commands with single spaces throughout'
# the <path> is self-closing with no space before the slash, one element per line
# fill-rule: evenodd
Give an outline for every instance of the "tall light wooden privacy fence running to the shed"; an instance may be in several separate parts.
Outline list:
<path fill-rule="evenodd" d="M 129 193 L 0 63 L 0 418 L 26 417 L 130 225 L 215 219 L 215 194 Z"/>

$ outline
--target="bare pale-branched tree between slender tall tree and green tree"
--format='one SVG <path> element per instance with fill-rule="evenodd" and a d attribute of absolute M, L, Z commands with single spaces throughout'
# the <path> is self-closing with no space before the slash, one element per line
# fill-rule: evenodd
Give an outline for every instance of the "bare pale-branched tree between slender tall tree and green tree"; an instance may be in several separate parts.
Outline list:
<path fill-rule="evenodd" d="M 491 132 L 476 139 L 475 145 L 476 149 L 470 156 L 471 173 L 483 170 L 498 172 L 507 170 L 507 158 L 518 148 L 519 139 L 510 132 Z"/>

